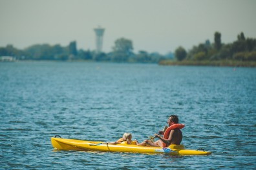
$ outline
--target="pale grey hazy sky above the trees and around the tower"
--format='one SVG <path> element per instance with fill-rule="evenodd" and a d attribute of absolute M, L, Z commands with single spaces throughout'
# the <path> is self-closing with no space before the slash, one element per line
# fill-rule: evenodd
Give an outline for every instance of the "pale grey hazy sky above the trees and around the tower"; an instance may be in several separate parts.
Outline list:
<path fill-rule="evenodd" d="M 134 52 L 174 52 L 178 46 L 256 37 L 256 0 L 0 0 L 0 46 L 32 44 L 95 50 L 93 28 L 105 28 L 103 51 L 121 37 Z"/>

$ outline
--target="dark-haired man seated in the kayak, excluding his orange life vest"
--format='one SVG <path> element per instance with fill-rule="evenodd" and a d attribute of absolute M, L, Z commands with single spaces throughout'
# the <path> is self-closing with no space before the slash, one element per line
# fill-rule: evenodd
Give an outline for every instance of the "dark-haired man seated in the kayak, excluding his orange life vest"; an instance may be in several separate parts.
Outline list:
<path fill-rule="evenodd" d="M 169 126 L 173 124 L 178 124 L 178 117 L 176 115 L 171 115 L 168 120 L 167 124 Z M 160 131 L 160 134 L 164 134 L 163 131 Z M 171 144 L 180 145 L 182 141 L 182 131 L 180 129 L 171 129 L 168 138 L 163 138 L 158 134 L 155 134 L 156 137 L 160 138 L 156 142 L 152 142 L 151 140 L 144 140 L 141 144 L 137 144 L 139 146 L 155 146 L 155 147 L 167 147 Z"/>

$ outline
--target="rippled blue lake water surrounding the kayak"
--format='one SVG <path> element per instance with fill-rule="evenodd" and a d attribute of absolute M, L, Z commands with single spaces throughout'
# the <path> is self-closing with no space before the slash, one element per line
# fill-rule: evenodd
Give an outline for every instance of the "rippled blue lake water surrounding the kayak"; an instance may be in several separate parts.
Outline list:
<path fill-rule="evenodd" d="M 178 115 L 209 156 L 56 151 L 50 137 L 142 142 Z M 0 169 L 255 169 L 256 68 L 0 62 Z"/>

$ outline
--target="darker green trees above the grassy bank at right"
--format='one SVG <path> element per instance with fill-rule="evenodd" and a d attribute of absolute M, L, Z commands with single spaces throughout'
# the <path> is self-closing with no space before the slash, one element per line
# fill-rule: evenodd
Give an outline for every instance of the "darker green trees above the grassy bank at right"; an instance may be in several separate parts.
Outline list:
<path fill-rule="evenodd" d="M 221 42 L 221 33 L 215 32 L 214 42 L 209 40 L 193 46 L 191 50 L 186 50 L 180 46 L 175 50 L 177 61 L 218 61 L 218 60 L 237 60 L 237 61 L 256 61 L 256 39 L 246 38 L 241 32 L 237 35 L 237 41 L 229 44 Z"/>

